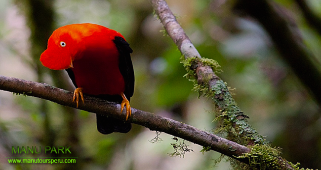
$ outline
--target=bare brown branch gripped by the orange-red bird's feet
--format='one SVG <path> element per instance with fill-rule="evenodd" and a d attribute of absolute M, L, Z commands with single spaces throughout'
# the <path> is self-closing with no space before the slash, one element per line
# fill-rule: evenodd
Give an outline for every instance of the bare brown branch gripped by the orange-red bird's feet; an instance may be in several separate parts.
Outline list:
<path fill-rule="evenodd" d="M 0 75 L 0 89 L 27 96 L 34 96 L 60 105 L 76 108 L 76 104 L 72 102 L 72 92 L 44 83 L 36 83 Z M 125 111 L 120 114 L 120 104 L 90 96 L 85 96 L 84 99 L 85 105 L 80 105 L 78 109 L 125 120 Z M 249 148 L 236 142 L 228 141 L 170 118 L 134 108 L 131 108 L 131 112 L 132 115 L 129 119 L 131 123 L 142 125 L 150 130 L 164 132 L 201 146 L 209 147 L 211 150 L 220 152 L 232 158 L 241 156 L 243 153 L 250 151 Z M 248 163 L 247 159 L 238 160 Z"/>

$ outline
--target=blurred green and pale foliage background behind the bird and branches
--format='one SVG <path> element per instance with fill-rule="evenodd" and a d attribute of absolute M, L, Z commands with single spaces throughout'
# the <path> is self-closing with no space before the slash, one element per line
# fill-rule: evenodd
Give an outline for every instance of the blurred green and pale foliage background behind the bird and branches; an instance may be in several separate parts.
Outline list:
<path fill-rule="evenodd" d="M 0 74 L 37 81 L 35 63 L 40 61 L 31 57 L 30 19 L 26 15 L 28 10 L 23 9 L 27 7 L 17 5 L 20 1 L 0 1 Z M 307 1 L 321 16 L 321 2 Z M 235 15 L 233 1 L 167 2 L 201 56 L 213 58 L 221 65 L 223 72 L 219 76 L 236 88 L 234 98 L 259 134 L 267 135 L 267 141 L 272 141 L 273 146 L 283 148 L 281 156 L 285 159 L 300 162 L 304 168 L 320 169 L 320 107 L 280 59 L 264 29 L 251 19 Z M 321 37 L 307 24 L 295 2 L 275 2 L 296 23 L 298 36 L 302 36 L 307 49 L 320 60 Z M 163 28 L 149 1 L 55 0 L 53 11 L 54 28 L 89 22 L 124 35 L 134 50 L 136 84 L 132 107 L 171 117 L 199 129 L 215 127 L 215 122 L 211 123 L 214 115 L 206 112 L 214 109 L 211 101 L 198 99 L 198 94 L 192 91 L 193 84 L 183 78 L 186 71 L 180 63 L 181 54 L 170 38 L 163 35 Z M 49 70 L 43 69 L 43 82 L 59 83 Z M 62 75 L 66 76 L 64 72 Z M 43 137 L 48 134 L 40 103 L 41 100 L 36 98 L 0 91 L 0 169 L 75 167 L 14 165 L 4 159 L 22 156 L 11 154 L 12 145 L 38 146 L 44 143 Z M 72 151 L 78 154 L 78 169 L 225 170 L 229 166 L 222 162 L 213 167 L 213 158 L 219 154 L 212 151 L 201 154 L 202 147 L 193 143 L 188 145 L 195 152 L 186 153 L 185 158 L 171 158 L 167 153 L 173 152 L 170 145 L 173 137 L 161 134 L 163 142 L 153 144 L 148 141 L 156 136 L 155 132 L 137 125 L 133 125 L 128 134 L 104 136 L 97 132 L 92 113 L 78 112 L 70 119 L 65 108 L 47 102 L 46 115 L 54 134 L 50 137 L 54 139 L 54 145 L 76 144 Z M 39 157 L 45 156 L 48 155 Z"/>

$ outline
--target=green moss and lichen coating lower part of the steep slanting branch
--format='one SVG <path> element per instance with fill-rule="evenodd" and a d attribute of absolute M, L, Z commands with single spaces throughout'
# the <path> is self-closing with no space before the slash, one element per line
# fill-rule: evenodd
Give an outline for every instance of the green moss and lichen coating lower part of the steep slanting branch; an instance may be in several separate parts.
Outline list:
<path fill-rule="evenodd" d="M 236 157 L 238 159 L 248 159 L 249 165 L 241 163 L 235 159 L 228 158 L 234 170 L 299 170 L 299 164 L 292 164 L 280 157 L 281 149 L 272 147 L 260 134 L 248 124 L 245 115 L 236 101 L 232 98 L 229 87 L 215 73 L 220 73 L 219 64 L 208 58 L 192 57 L 182 58 L 181 61 L 187 71 L 184 76 L 194 83 L 194 91 L 199 96 L 211 98 L 216 106 L 214 121 L 219 122 L 214 133 L 224 134 L 230 141 L 248 145 L 250 152 Z M 203 147 L 201 152 L 206 152 L 208 148 Z M 222 159 L 219 158 L 217 162 Z M 303 169 L 301 169 L 303 170 Z"/>

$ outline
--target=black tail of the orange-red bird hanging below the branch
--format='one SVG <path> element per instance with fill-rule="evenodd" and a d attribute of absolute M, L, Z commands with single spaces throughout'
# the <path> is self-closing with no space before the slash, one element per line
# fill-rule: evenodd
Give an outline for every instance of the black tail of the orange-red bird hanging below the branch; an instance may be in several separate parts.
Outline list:
<path fill-rule="evenodd" d="M 113 132 L 127 133 L 130 129 L 131 123 L 97 114 L 97 130 L 104 135 Z"/>

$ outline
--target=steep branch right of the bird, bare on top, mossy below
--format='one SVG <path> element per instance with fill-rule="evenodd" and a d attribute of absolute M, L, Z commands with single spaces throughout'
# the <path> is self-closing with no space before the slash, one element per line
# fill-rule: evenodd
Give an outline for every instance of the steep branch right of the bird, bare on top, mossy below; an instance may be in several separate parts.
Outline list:
<path fill-rule="evenodd" d="M 172 38 L 184 59 L 182 62 L 186 68 L 187 77 L 190 81 L 194 82 L 194 90 L 198 91 L 200 95 L 210 97 L 219 111 L 216 119 L 222 124 L 222 128 L 219 131 L 224 131 L 230 140 L 239 142 L 245 145 L 254 145 L 258 147 L 268 147 L 265 149 L 266 152 L 255 155 L 260 158 L 259 160 L 266 162 L 267 157 L 265 155 L 273 155 L 273 159 L 277 160 L 275 164 L 268 164 L 265 167 L 261 167 L 260 164 L 253 164 L 251 162 L 252 155 L 242 155 L 239 158 L 248 159 L 251 168 L 258 168 L 261 170 L 274 169 L 275 167 L 281 167 L 281 170 L 296 170 L 298 165 L 282 159 L 278 154 L 275 153 L 275 148 L 272 148 L 263 137 L 257 133 L 251 125 L 248 124 L 247 118 L 233 99 L 227 84 L 222 81 L 216 73 L 218 73 L 218 63 L 215 60 L 201 58 L 201 55 L 194 47 L 191 40 L 185 34 L 183 28 L 177 22 L 175 16 L 169 9 L 165 0 L 150 0 L 155 13 L 161 20 L 166 32 Z M 202 151 L 207 151 L 208 147 L 205 145 Z M 252 151 L 252 150 L 251 150 Z M 251 153 L 251 152 L 249 152 Z M 238 163 L 234 168 L 241 169 L 244 167 Z"/>

